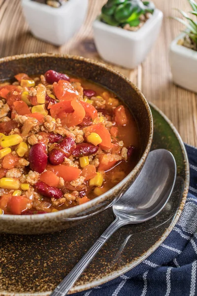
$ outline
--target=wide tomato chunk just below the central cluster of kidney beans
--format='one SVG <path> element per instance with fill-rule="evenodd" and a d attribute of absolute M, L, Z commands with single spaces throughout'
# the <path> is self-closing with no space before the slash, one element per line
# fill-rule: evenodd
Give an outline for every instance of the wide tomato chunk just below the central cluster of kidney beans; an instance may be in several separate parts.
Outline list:
<path fill-rule="evenodd" d="M 80 169 L 72 166 L 66 166 L 64 164 L 48 165 L 46 169 L 51 170 L 58 177 L 62 177 L 66 182 L 75 180 L 81 175 Z"/>

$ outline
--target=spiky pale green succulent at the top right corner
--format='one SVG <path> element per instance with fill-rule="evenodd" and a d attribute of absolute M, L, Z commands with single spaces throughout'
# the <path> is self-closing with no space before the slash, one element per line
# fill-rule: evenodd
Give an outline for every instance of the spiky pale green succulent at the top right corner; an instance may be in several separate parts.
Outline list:
<path fill-rule="evenodd" d="M 192 11 L 189 11 L 189 13 L 197 16 L 197 2 L 195 0 L 188 0 L 188 2 L 190 3 L 193 9 Z M 188 35 L 193 40 L 193 42 L 197 45 L 197 21 L 194 21 L 186 12 L 180 9 L 176 9 L 176 10 L 178 10 L 187 21 L 179 17 L 173 17 L 173 19 L 179 21 L 180 23 L 186 26 L 187 30 L 184 31 L 184 33 L 186 33 L 186 35 Z"/>

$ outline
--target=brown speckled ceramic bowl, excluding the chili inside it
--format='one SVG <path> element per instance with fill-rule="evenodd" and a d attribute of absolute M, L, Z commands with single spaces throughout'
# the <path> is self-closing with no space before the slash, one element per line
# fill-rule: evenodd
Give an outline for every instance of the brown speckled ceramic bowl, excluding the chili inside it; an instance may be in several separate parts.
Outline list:
<path fill-rule="evenodd" d="M 0 215 L 0 232 L 38 234 L 69 228 L 91 218 L 110 207 L 122 196 L 140 173 L 153 139 L 153 118 L 149 105 L 139 91 L 124 75 L 105 65 L 85 59 L 57 54 L 28 54 L 0 59 L 0 78 L 12 79 L 17 73 L 43 74 L 53 69 L 81 76 L 97 82 L 115 92 L 133 113 L 140 133 L 140 159 L 131 173 L 118 185 L 95 199 L 70 209 L 42 215 Z"/>

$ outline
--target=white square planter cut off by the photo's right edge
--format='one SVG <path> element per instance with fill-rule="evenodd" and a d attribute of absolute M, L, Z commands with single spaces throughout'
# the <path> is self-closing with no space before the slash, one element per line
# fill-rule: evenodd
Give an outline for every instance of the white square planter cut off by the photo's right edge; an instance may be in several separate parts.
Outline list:
<path fill-rule="evenodd" d="M 173 82 L 177 85 L 197 92 L 197 51 L 178 45 L 181 34 L 170 44 L 169 63 Z"/>

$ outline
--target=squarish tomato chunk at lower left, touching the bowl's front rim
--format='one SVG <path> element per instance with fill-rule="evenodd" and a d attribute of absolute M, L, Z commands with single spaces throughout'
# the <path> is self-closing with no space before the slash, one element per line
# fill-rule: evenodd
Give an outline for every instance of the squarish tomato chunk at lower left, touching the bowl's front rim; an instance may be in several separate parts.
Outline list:
<path fill-rule="evenodd" d="M 28 209 L 30 200 L 25 196 L 11 196 L 8 202 L 9 210 L 14 215 L 21 215 L 21 213 Z"/>

